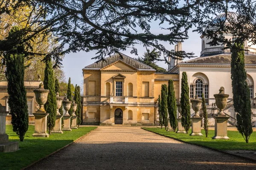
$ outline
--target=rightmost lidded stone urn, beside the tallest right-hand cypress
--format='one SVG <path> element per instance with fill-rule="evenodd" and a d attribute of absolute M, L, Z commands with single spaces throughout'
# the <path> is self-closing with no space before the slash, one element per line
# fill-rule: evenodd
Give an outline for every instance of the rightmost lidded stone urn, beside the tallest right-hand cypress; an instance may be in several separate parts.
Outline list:
<path fill-rule="evenodd" d="M 219 91 L 219 94 L 213 95 L 215 97 L 215 103 L 220 110 L 217 116 L 226 116 L 225 113 L 223 112 L 223 109 L 227 106 L 227 98 L 229 97 L 229 95 L 224 94 L 223 88 L 220 88 Z"/>

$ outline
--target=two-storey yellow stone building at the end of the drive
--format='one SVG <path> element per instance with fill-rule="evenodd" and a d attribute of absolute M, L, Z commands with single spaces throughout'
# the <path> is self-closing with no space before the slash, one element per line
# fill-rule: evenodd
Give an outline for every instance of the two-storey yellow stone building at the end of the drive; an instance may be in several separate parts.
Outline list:
<path fill-rule="evenodd" d="M 158 125 L 157 108 L 161 85 L 174 80 L 179 96 L 177 73 L 156 70 L 125 54 L 83 68 L 84 125 Z"/>

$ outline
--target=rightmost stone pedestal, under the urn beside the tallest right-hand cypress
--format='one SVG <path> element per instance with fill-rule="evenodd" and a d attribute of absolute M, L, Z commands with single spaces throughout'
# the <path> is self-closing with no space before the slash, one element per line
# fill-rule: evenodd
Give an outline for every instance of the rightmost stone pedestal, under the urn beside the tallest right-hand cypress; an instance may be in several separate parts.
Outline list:
<path fill-rule="evenodd" d="M 227 137 L 227 119 L 226 116 L 215 116 L 215 136 L 212 139 L 229 139 Z"/>

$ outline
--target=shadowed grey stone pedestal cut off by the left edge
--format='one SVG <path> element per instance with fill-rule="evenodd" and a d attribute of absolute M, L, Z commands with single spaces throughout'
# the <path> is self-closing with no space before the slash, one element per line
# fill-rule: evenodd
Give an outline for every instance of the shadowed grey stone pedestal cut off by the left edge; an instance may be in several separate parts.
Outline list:
<path fill-rule="evenodd" d="M 12 152 L 19 149 L 19 142 L 9 142 L 9 136 L 6 134 L 7 113 L 0 111 L 0 152 Z"/>

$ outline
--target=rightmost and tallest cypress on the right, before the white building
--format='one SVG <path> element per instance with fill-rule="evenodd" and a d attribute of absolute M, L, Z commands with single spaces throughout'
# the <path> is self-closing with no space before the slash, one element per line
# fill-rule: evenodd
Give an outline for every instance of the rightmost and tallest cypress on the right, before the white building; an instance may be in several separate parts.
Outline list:
<path fill-rule="evenodd" d="M 244 69 L 244 45 L 243 42 L 235 42 L 231 55 L 231 79 L 233 91 L 233 105 L 235 108 L 237 129 L 246 143 L 253 133 L 251 123 L 250 91 L 247 85 L 246 71 Z"/>

